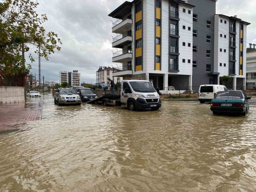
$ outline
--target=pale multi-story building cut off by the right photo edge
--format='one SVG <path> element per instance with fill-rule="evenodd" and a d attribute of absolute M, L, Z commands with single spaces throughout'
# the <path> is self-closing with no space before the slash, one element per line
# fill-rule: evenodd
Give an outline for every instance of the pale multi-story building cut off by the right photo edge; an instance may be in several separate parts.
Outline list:
<path fill-rule="evenodd" d="M 253 48 L 251 47 L 253 45 Z M 255 89 L 256 86 L 256 49 L 255 44 L 249 44 L 246 57 L 246 88 Z"/>

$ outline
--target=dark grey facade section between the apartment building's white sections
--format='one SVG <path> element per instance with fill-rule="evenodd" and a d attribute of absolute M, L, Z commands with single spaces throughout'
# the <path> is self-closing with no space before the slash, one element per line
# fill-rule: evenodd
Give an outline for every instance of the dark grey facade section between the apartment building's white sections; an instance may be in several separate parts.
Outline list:
<path fill-rule="evenodd" d="M 214 72 L 214 15 L 216 13 L 216 2 L 212 0 L 188 0 L 189 4 L 195 5 L 193 13 L 197 14 L 197 22 L 193 21 L 193 29 L 197 30 L 197 37 L 193 37 L 193 45 L 197 45 L 197 53 L 193 52 L 193 60 L 197 61 L 197 68 L 193 68 L 192 86 L 209 84 L 210 79 L 214 79 L 214 84 L 218 84 L 218 79 L 208 75 L 206 65 L 211 65 L 211 72 Z M 206 27 L 207 20 L 212 22 L 211 29 Z M 211 43 L 206 42 L 206 35 L 211 36 Z M 211 58 L 206 57 L 206 50 L 211 50 Z M 191 62 L 192 63 L 192 62 Z"/>

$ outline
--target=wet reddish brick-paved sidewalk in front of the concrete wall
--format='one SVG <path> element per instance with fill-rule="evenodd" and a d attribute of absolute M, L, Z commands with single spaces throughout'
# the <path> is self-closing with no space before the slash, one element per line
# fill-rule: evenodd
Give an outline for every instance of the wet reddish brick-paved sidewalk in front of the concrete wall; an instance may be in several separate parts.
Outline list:
<path fill-rule="evenodd" d="M 0 104 L 0 132 L 20 129 L 28 121 L 39 121 L 42 109 L 39 103 Z"/>

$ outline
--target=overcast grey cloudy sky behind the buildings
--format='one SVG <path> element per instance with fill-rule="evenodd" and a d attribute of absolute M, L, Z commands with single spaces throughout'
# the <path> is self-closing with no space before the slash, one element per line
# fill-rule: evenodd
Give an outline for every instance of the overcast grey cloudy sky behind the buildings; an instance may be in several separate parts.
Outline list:
<path fill-rule="evenodd" d="M 132 1 L 132 0 L 128 0 Z M 48 21 L 44 23 L 47 31 L 59 35 L 63 45 L 61 51 L 42 61 L 42 76 L 45 81 L 59 81 L 59 71 L 78 70 L 81 82 L 96 82 L 99 66 L 116 66 L 112 63 L 112 22 L 108 16 L 125 0 L 38 0 L 37 12 L 45 13 Z M 256 43 L 256 1 L 255 0 L 218 0 L 216 14 L 238 18 L 252 23 L 247 27 L 247 46 Z M 38 56 L 32 63 L 31 73 L 38 80 Z M 28 61 L 28 58 L 27 58 Z M 120 63 L 117 63 L 120 65 Z"/>

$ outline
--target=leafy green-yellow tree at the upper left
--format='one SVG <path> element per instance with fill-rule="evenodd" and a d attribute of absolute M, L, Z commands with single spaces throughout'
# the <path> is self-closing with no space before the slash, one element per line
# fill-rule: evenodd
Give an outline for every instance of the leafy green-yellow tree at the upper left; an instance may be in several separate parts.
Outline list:
<path fill-rule="evenodd" d="M 54 32 L 46 32 L 42 27 L 47 17 L 45 14 L 39 16 L 36 13 L 35 9 L 38 5 L 37 1 L 32 0 L 0 2 L 0 86 L 1 80 L 6 77 L 15 75 L 25 77 L 28 74 L 31 64 L 27 63 L 28 67 L 25 71 L 22 51 L 34 49 L 34 53 L 49 60 L 49 55 L 61 49 L 58 35 Z M 31 52 L 29 59 L 31 62 L 35 61 Z"/>

